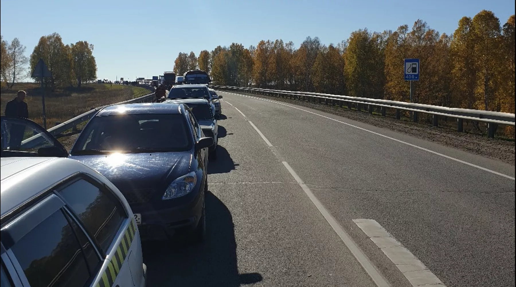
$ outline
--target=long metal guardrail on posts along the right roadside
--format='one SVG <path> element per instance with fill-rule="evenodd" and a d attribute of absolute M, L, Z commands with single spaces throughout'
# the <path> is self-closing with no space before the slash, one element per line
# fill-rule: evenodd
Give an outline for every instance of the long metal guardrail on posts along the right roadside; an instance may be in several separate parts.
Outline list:
<path fill-rule="evenodd" d="M 496 126 L 498 124 L 514 126 L 515 119 L 514 114 L 500 113 L 497 111 L 450 108 L 380 99 L 348 97 L 346 95 L 214 85 L 211 85 L 210 87 L 219 90 L 272 95 L 274 97 L 291 98 L 297 100 L 305 100 L 309 102 L 314 102 L 317 100 L 319 103 L 321 103 L 324 100 L 326 104 L 329 104 L 329 102 L 331 101 L 331 105 L 338 104 L 340 107 L 346 105 L 348 108 L 354 106 L 358 110 L 361 110 L 362 106 L 366 105 L 369 113 L 371 114 L 374 111 L 374 107 L 380 107 L 382 116 L 385 116 L 386 108 L 394 108 L 396 110 L 396 119 L 400 119 L 400 110 L 408 110 L 412 112 L 412 120 L 415 122 L 417 122 L 417 113 L 425 113 L 432 115 L 434 126 L 438 126 L 439 116 L 457 118 L 457 131 L 459 132 L 463 131 L 464 120 L 486 122 L 488 123 L 488 136 L 491 138 L 494 137 Z"/>

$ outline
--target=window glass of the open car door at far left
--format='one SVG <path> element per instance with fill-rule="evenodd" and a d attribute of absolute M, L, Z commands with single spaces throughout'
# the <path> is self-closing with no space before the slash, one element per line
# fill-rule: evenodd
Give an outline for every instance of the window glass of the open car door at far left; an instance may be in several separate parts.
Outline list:
<path fill-rule="evenodd" d="M 55 146 L 54 138 L 34 122 L 3 117 L 0 127 L 3 151 L 38 152 L 40 148 Z"/>

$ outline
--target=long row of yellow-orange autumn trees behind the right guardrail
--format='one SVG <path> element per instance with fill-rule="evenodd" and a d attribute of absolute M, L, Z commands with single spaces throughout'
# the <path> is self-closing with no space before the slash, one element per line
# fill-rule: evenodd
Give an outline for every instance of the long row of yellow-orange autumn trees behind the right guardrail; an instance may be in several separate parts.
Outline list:
<path fill-rule="evenodd" d="M 213 84 L 296 90 L 408 102 L 404 59 L 420 59 L 413 102 L 514 113 L 514 15 L 500 24 L 482 10 L 463 17 L 453 35 L 417 20 L 410 28 L 353 31 L 338 44 L 307 37 L 299 47 L 262 40 L 209 52 L 179 53 L 174 72 L 207 71 Z"/>

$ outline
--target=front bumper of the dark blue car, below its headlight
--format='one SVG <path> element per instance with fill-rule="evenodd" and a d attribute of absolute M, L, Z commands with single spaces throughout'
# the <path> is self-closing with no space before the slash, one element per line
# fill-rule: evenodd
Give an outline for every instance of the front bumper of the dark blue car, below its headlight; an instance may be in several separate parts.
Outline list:
<path fill-rule="evenodd" d="M 149 211 L 133 208 L 133 213 L 141 214 L 138 225 L 142 240 L 170 239 L 176 232 L 195 229 L 202 215 L 204 186 L 193 200 L 184 204 L 160 210 Z"/>

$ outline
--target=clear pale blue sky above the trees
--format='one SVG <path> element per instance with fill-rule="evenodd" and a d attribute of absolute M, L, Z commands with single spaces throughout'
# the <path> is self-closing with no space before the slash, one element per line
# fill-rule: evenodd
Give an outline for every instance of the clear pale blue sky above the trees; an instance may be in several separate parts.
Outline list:
<path fill-rule="evenodd" d="M 514 14 L 513 0 L 195 0 L 35 1 L 2 0 L 4 40 L 18 37 L 29 56 L 39 38 L 54 32 L 65 44 L 86 40 L 95 46 L 99 78 L 134 79 L 172 70 L 179 52 L 211 51 L 238 42 L 283 39 L 296 46 L 307 37 L 338 43 L 357 29 L 395 30 L 422 19 L 451 34 L 463 16 L 491 10 L 503 25 Z"/>

